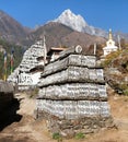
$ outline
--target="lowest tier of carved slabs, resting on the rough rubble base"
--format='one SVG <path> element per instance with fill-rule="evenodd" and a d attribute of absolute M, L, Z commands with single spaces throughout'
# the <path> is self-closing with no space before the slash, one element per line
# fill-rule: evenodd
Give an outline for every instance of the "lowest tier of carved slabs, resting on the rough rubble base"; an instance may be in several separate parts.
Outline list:
<path fill-rule="evenodd" d="M 107 102 L 37 99 L 36 103 L 38 110 L 46 111 L 61 119 L 110 116 Z"/>

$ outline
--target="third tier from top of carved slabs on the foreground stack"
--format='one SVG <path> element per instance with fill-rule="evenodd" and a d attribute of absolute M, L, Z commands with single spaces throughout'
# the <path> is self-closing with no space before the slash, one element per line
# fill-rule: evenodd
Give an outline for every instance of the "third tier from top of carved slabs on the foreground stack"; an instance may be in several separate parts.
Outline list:
<path fill-rule="evenodd" d="M 94 83 L 70 83 L 43 87 L 39 90 L 38 98 L 107 100 L 107 94 L 105 85 Z"/>

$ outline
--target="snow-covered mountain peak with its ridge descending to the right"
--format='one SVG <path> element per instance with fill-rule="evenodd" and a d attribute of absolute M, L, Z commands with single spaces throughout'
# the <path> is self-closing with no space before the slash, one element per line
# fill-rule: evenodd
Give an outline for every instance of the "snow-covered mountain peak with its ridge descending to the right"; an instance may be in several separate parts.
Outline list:
<path fill-rule="evenodd" d="M 78 32 L 103 36 L 103 37 L 105 37 L 106 35 L 105 31 L 89 25 L 80 14 L 75 15 L 74 13 L 71 12 L 70 9 L 65 10 L 56 20 L 54 20 L 54 22 L 58 22 L 63 25 L 67 25 Z"/>

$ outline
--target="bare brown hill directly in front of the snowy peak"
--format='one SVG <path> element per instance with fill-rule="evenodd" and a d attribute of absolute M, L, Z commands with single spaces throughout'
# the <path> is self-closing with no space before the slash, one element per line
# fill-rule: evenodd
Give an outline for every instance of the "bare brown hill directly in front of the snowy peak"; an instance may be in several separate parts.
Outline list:
<path fill-rule="evenodd" d="M 48 48 L 53 46 L 75 46 L 89 47 L 94 43 L 105 43 L 105 38 L 80 33 L 57 22 L 50 22 L 31 34 L 32 40 L 46 36 Z"/>

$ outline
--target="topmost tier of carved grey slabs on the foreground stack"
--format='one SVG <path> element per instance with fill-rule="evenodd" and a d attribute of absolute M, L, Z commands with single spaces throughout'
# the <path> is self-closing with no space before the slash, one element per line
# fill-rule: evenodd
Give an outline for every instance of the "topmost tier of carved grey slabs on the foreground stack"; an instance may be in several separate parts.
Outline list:
<path fill-rule="evenodd" d="M 94 56 L 69 55 L 65 59 L 47 64 L 42 76 L 67 69 L 69 66 L 95 68 L 96 58 Z"/>

